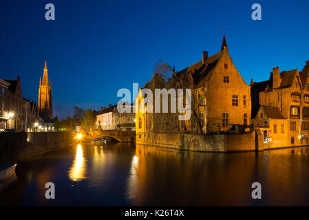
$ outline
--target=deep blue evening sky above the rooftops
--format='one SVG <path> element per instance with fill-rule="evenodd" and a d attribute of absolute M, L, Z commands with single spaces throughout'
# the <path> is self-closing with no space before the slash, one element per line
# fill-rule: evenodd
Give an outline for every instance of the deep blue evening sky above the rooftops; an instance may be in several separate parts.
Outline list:
<path fill-rule="evenodd" d="M 56 20 L 45 20 L 54 3 Z M 262 21 L 251 5 L 262 5 Z M 301 70 L 309 60 L 309 1 L 23 0 L 0 3 L 0 78 L 21 76 L 23 96 L 37 102 L 47 61 L 54 115 L 72 106 L 116 104 L 120 88 L 145 85 L 157 61 L 176 70 L 220 51 L 225 23 L 228 52 L 246 83 L 272 68 Z"/>

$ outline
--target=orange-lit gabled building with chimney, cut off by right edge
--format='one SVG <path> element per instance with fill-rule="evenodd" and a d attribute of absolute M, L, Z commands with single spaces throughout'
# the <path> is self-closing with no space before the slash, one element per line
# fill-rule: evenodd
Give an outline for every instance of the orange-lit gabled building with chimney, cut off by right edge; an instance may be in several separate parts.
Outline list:
<path fill-rule="evenodd" d="M 269 80 L 255 83 L 251 80 L 252 122 L 255 125 L 260 106 L 273 107 L 277 115 L 286 120 L 286 127 L 281 131 L 282 123 L 268 124 L 270 131 L 278 131 L 281 135 L 273 137 L 270 146 L 282 139 L 286 144 L 281 146 L 308 145 L 309 141 L 309 61 L 301 72 L 298 69 L 280 72 L 274 67 Z M 264 140 L 267 135 L 264 133 Z M 269 137 L 268 137 L 269 139 Z"/>

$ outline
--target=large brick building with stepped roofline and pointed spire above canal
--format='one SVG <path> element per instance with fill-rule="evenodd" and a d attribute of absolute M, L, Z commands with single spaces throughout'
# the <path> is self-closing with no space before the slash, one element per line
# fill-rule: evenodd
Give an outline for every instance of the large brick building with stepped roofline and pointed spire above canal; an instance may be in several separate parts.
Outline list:
<path fill-rule="evenodd" d="M 233 59 L 228 53 L 225 35 L 220 52 L 208 56 L 202 53 L 202 61 L 195 63 L 173 76 L 167 78 L 156 72 L 153 79 L 147 82 L 145 89 L 155 94 L 155 89 L 167 89 L 169 100 L 170 89 L 191 89 L 191 118 L 178 120 L 179 112 L 172 113 L 169 105 L 168 113 L 150 113 L 141 110 L 139 103 L 146 102 L 145 94 L 140 90 L 136 99 L 136 133 L 143 137 L 150 132 L 180 133 L 217 133 L 235 131 L 246 128 L 251 118 L 251 89 L 237 71 Z M 188 100 L 184 100 L 185 103 Z M 170 102 L 169 102 L 170 103 Z M 148 107 L 146 102 L 145 108 Z M 160 103 L 162 107 L 162 99 Z M 153 109 L 155 109 L 153 97 Z M 162 112 L 162 111 L 161 111 Z M 144 133 L 144 135 L 142 135 Z M 137 137 L 137 138 L 138 138 Z"/>

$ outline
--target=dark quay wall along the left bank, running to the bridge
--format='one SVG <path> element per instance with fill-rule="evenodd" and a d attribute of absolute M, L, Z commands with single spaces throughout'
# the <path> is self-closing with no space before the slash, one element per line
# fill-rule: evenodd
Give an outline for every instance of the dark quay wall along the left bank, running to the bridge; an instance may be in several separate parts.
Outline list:
<path fill-rule="evenodd" d="M 71 132 L 0 133 L 0 162 L 25 159 L 74 143 Z"/>

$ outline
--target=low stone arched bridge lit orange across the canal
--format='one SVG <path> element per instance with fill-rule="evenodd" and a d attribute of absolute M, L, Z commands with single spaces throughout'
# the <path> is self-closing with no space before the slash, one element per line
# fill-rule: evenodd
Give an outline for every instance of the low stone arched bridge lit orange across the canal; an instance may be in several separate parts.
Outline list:
<path fill-rule="evenodd" d="M 112 137 L 118 140 L 118 142 L 134 142 L 136 132 L 113 130 L 88 131 L 86 133 L 83 133 L 83 142 L 92 142 L 98 137 Z"/>

